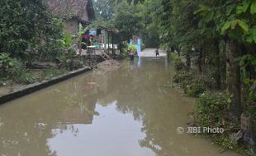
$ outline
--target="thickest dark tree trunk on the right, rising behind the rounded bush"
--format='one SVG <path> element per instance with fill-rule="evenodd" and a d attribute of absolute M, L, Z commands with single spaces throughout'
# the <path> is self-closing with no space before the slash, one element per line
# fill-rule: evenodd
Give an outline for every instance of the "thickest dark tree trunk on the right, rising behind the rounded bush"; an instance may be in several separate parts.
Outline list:
<path fill-rule="evenodd" d="M 238 42 L 232 39 L 228 40 L 226 44 L 226 83 L 227 93 L 233 95 L 230 105 L 230 114 L 233 117 L 239 117 L 242 112 L 239 62 L 235 61 L 240 53 Z"/>

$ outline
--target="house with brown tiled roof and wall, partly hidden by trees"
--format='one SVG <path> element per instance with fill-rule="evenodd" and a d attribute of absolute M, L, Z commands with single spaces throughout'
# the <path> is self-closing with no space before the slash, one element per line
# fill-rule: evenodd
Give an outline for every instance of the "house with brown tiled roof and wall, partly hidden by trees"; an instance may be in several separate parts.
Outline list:
<path fill-rule="evenodd" d="M 78 25 L 88 25 L 94 18 L 92 0 L 48 0 L 50 10 L 65 19 L 64 27 L 70 34 L 78 34 Z"/>

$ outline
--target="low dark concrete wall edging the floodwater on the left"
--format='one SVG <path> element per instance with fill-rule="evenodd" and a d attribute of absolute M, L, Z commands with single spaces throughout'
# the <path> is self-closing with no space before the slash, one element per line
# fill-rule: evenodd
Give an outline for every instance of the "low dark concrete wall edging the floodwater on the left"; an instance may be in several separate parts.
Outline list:
<path fill-rule="evenodd" d="M 86 71 L 91 71 L 91 70 L 92 70 L 91 67 L 83 67 L 81 69 L 78 69 L 77 71 L 70 71 L 67 74 L 56 76 L 51 80 L 44 80 L 40 83 L 35 83 L 35 84 L 27 85 L 26 87 L 22 87 L 21 89 L 15 90 L 12 93 L 2 94 L 0 96 L 0 104 L 7 103 L 8 101 L 11 101 L 13 99 L 20 98 L 21 96 L 24 96 L 26 94 L 31 94 L 32 92 L 35 92 L 39 89 L 46 88 L 50 85 L 54 85 L 56 83 L 59 83 L 60 81 L 67 80 L 73 76 L 78 76 Z"/>

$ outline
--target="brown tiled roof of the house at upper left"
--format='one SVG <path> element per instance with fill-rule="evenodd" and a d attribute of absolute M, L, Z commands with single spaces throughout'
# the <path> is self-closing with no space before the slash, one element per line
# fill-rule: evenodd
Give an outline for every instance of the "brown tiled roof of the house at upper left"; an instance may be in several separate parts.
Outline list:
<path fill-rule="evenodd" d="M 92 9 L 92 7 L 88 7 L 89 1 L 90 0 L 48 0 L 48 6 L 57 16 L 83 16 L 87 9 Z"/>

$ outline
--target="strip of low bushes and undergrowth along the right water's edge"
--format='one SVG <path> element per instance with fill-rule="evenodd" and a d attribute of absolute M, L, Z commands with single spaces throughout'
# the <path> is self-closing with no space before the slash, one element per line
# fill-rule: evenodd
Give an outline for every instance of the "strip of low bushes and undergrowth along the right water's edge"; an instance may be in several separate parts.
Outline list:
<path fill-rule="evenodd" d="M 211 137 L 221 149 L 232 149 L 241 154 L 254 154 L 254 127 L 250 130 L 241 130 L 242 121 L 230 120 L 230 106 L 233 94 L 226 89 L 217 89 L 216 80 L 205 73 L 198 72 L 195 68 L 187 68 L 182 58 L 177 53 L 171 53 L 171 62 L 175 69 L 173 82 L 178 84 L 184 93 L 198 98 L 190 126 L 222 127 L 223 134 L 204 134 Z M 251 117 L 255 123 L 254 110 L 245 108 L 243 117 Z M 241 118 L 240 118 L 241 120 Z M 244 131 L 244 135 L 241 134 Z"/>

